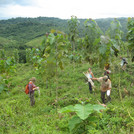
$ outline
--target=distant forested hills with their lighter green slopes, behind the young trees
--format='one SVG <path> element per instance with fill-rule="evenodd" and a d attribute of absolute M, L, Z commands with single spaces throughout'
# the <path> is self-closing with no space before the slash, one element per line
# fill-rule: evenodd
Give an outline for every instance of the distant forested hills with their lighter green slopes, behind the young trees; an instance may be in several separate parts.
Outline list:
<path fill-rule="evenodd" d="M 86 19 L 78 19 L 79 37 L 85 36 L 86 28 L 84 22 Z M 110 23 L 114 18 L 95 20 L 100 29 L 105 33 L 110 27 Z M 118 19 L 123 32 L 122 39 L 126 40 L 127 34 L 127 18 Z M 20 54 L 20 62 L 25 62 L 25 49 L 38 46 L 41 39 L 51 30 L 59 30 L 69 34 L 68 20 L 58 18 L 38 17 L 38 18 L 13 18 L 8 20 L 0 20 L 0 48 L 18 49 Z M 34 42 L 34 43 L 33 43 Z M 38 44 L 36 44 L 38 43 Z M 24 60 L 23 60 L 24 59 Z"/>

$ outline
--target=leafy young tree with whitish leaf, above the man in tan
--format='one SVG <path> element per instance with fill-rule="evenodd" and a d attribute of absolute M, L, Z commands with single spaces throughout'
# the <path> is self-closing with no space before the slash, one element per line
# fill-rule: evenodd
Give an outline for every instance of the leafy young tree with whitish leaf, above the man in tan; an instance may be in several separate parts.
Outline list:
<path fill-rule="evenodd" d="M 99 63 L 101 67 L 109 64 L 113 60 L 113 56 L 118 56 L 122 42 L 121 25 L 117 19 L 111 22 L 106 35 L 101 36 L 99 46 Z"/>

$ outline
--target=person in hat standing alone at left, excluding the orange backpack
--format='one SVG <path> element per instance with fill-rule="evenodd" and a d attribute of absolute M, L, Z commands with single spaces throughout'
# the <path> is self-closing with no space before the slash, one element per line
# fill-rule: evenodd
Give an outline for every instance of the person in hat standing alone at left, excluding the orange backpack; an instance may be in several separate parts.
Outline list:
<path fill-rule="evenodd" d="M 35 85 L 36 78 L 32 77 L 29 82 L 29 97 L 30 97 L 30 103 L 31 106 L 35 105 L 35 99 L 34 99 L 34 91 L 39 90 L 39 87 Z"/>

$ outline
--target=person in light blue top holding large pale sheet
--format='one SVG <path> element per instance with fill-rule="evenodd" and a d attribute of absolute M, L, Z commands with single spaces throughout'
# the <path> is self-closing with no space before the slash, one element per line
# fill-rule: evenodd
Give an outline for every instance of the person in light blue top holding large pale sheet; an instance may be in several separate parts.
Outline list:
<path fill-rule="evenodd" d="M 83 72 L 83 74 L 88 78 L 89 91 L 90 91 L 90 93 L 92 93 L 93 87 L 94 87 L 92 78 L 94 78 L 94 74 L 92 73 L 91 68 L 89 68 L 86 73 Z"/>

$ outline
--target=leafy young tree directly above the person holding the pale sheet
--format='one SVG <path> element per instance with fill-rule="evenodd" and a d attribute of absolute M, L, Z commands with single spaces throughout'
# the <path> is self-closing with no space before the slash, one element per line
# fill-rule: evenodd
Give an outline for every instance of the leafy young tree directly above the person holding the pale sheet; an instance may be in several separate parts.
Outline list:
<path fill-rule="evenodd" d="M 102 34 L 101 29 L 97 25 L 95 20 L 88 19 L 84 22 L 85 26 L 85 37 L 83 39 L 83 48 L 85 60 L 89 61 L 90 64 L 98 62 L 96 52 L 99 47 L 100 35 Z M 94 55 L 95 53 L 95 55 Z"/>

